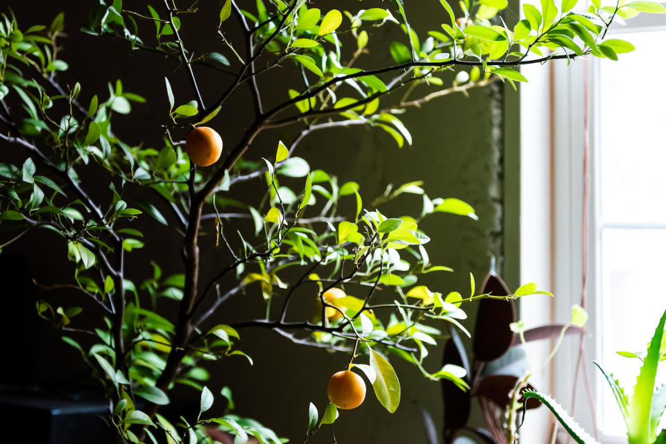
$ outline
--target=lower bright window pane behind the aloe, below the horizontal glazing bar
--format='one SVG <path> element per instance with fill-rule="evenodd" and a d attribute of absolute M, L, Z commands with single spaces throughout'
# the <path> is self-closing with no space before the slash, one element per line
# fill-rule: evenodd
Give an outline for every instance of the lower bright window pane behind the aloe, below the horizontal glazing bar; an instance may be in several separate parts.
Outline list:
<path fill-rule="evenodd" d="M 640 361 L 616 351 L 644 352 L 664 310 L 660 278 L 665 270 L 666 230 L 604 229 L 601 233 L 601 363 L 631 391 Z M 666 382 L 660 375 L 662 382 Z M 606 434 L 626 433 L 610 389 L 600 387 L 602 427 Z"/>

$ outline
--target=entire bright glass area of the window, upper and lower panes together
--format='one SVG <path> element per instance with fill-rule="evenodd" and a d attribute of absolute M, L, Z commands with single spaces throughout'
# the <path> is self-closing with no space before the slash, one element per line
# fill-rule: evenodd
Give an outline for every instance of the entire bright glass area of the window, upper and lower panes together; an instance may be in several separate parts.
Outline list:
<path fill-rule="evenodd" d="M 666 31 L 617 38 L 637 49 L 599 66 L 599 360 L 631 393 L 640 361 L 615 352 L 644 352 L 666 305 L 666 84 L 656 80 L 666 72 Z M 600 389 L 601 429 L 626 434 L 610 389 Z"/>

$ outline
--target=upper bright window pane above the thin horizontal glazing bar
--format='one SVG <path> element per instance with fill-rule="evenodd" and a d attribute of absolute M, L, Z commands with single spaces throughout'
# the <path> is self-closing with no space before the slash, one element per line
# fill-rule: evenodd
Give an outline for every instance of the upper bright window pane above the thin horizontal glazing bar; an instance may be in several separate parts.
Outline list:
<path fill-rule="evenodd" d="M 601 218 L 666 222 L 666 31 L 617 37 L 636 50 L 599 67 Z"/>

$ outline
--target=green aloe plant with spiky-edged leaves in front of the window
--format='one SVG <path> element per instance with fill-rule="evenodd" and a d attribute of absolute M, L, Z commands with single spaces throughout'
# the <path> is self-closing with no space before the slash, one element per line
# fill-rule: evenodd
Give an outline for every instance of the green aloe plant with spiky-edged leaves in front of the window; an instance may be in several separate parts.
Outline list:
<path fill-rule="evenodd" d="M 661 418 L 666 409 L 666 386 L 656 388 L 656 375 L 659 363 L 665 356 L 664 325 L 666 311 L 662 314 L 654 336 L 647 347 L 647 355 L 643 359 L 640 373 L 633 387 L 631 398 L 626 396 L 620 382 L 595 362 L 610 384 L 613 396 L 626 424 L 626 435 L 629 444 L 660 444 L 666 443 L 666 434 L 660 433 Z M 578 444 L 595 444 L 597 441 L 587 434 L 574 420 L 549 396 L 537 391 L 527 390 L 523 397 L 536 398 L 553 412 L 557 420 Z"/>

